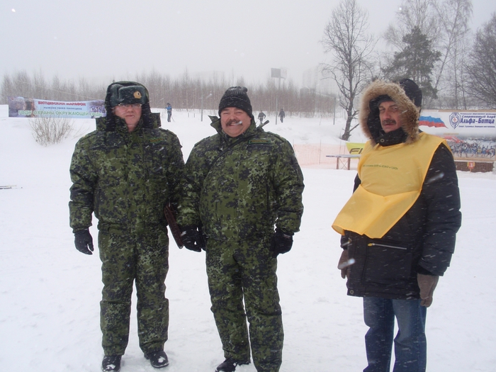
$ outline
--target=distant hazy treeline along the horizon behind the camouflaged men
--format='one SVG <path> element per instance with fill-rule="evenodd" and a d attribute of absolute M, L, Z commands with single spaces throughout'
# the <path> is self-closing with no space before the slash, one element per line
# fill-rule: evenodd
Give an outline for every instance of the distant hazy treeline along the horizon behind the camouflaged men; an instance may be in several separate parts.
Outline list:
<path fill-rule="evenodd" d="M 233 85 L 225 78 L 199 79 L 191 77 L 188 72 L 175 79 L 152 72 L 139 74 L 133 80 L 144 84 L 150 91 L 152 107 L 164 108 L 167 103 L 171 103 L 175 109 L 186 110 L 216 110 L 222 94 Z M 108 84 L 91 84 L 85 78 L 73 81 L 52 77 L 48 80 L 39 73 L 30 75 L 26 71 L 20 71 L 4 74 L 0 98 L 2 104 L 7 103 L 8 96 L 54 101 L 90 101 L 105 98 Z M 334 105 L 339 105 L 334 94 L 308 87 L 300 89 L 291 80 L 284 81 L 281 88 L 278 80 L 270 78 L 265 84 L 258 85 L 246 84 L 243 79 L 238 79 L 234 85 L 247 86 L 255 116 L 259 111 L 276 113 L 283 108 L 286 115 L 299 113 L 306 117 L 327 117 L 334 114 Z"/>

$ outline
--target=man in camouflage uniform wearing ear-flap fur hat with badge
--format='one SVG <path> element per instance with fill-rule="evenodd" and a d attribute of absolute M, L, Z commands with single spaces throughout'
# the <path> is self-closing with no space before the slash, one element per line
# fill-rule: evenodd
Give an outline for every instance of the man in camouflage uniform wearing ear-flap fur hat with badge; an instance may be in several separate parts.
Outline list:
<path fill-rule="evenodd" d="M 169 326 L 165 277 L 169 239 L 164 205 L 179 198 L 184 168 L 174 133 L 159 128 L 142 84 L 108 86 L 106 118 L 77 142 L 70 174 L 70 225 L 76 248 L 92 254 L 91 213 L 98 219 L 102 261 L 103 371 L 119 371 L 129 338 L 131 293 L 137 291 L 140 348 L 152 366 L 169 361 L 164 352 Z"/>

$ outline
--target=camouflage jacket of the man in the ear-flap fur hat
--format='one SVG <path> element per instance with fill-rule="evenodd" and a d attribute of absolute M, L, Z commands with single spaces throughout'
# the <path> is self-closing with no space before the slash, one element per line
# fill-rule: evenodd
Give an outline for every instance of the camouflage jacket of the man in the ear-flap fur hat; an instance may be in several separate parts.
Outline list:
<path fill-rule="evenodd" d="M 164 205 L 179 199 L 184 160 L 176 135 L 158 123 L 156 117 L 150 125 L 141 119 L 128 133 L 122 119 L 106 128 L 101 118 L 97 130 L 77 142 L 70 166 L 74 232 L 91 225 L 93 212 L 99 229 L 165 226 Z"/>

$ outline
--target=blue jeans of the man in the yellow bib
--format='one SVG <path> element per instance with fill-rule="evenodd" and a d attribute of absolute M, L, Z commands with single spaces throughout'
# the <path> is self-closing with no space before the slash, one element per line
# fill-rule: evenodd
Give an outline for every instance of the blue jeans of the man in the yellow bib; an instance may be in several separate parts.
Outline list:
<path fill-rule="evenodd" d="M 363 372 L 389 372 L 395 317 L 398 334 L 393 372 L 424 372 L 427 361 L 425 316 L 420 300 L 388 300 L 364 297 L 363 319 L 369 327 L 365 335 L 368 366 Z"/>

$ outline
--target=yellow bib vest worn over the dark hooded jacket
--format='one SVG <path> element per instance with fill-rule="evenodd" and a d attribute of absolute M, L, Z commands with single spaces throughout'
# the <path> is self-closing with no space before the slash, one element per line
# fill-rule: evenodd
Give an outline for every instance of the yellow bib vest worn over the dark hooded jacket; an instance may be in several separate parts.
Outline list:
<path fill-rule="evenodd" d="M 410 143 L 372 147 L 368 141 L 358 166 L 361 184 L 354 191 L 332 224 L 344 230 L 381 238 L 412 207 L 422 191 L 422 184 L 436 149 L 446 141 L 420 133 Z"/>

